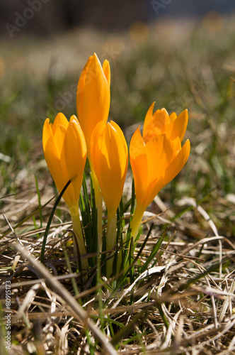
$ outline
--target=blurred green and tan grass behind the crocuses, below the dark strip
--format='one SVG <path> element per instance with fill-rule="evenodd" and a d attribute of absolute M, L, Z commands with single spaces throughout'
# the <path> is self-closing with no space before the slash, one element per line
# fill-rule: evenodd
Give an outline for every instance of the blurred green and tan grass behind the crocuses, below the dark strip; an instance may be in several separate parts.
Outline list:
<path fill-rule="evenodd" d="M 219 15 L 197 22 L 163 18 L 129 33 L 86 28 L 47 40 L 5 38 L 0 152 L 11 163 L 1 160 L 2 193 L 13 190 L 25 165 L 34 169 L 33 161 L 43 158 L 45 118 L 54 119 L 57 111 L 68 119 L 76 114 L 76 84 L 94 51 L 110 60 L 110 119 L 125 130 L 127 143 L 152 102 L 155 109 L 189 111 L 190 158 L 161 197 L 172 203 L 183 195 L 200 200 L 234 193 L 234 23 Z"/>

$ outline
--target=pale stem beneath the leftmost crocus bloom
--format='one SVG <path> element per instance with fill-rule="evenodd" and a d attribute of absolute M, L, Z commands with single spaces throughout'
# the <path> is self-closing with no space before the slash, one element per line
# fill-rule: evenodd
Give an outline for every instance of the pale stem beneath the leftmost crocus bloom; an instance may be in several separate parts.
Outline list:
<path fill-rule="evenodd" d="M 71 214 L 71 222 L 73 224 L 74 234 L 76 236 L 76 241 L 79 246 L 79 253 L 80 256 L 86 254 L 86 246 L 84 244 L 84 236 L 81 230 L 81 222 L 80 222 L 80 215 L 79 215 L 79 207 L 76 205 L 69 207 L 69 212 Z M 88 269 L 88 260 L 81 259 L 81 268 L 83 270 Z"/>

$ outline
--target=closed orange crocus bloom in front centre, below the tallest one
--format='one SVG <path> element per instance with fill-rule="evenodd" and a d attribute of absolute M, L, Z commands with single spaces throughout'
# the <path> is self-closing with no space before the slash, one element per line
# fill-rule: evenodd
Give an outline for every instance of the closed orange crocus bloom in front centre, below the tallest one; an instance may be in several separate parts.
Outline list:
<path fill-rule="evenodd" d="M 115 122 L 100 122 L 91 136 L 91 161 L 108 213 L 114 217 L 127 175 L 125 137 Z"/>

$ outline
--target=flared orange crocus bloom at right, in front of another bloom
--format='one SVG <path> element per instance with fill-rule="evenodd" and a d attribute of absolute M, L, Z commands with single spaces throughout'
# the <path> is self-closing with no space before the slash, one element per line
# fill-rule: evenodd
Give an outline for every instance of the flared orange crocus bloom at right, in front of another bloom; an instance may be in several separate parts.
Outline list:
<path fill-rule="evenodd" d="M 131 222 L 134 236 L 137 235 L 145 209 L 161 188 L 178 175 L 188 160 L 189 153 L 188 140 L 181 148 L 179 137 L 171 140 L 163 133 L 145 143 L 139 128 L 134 132 L 130 142 L 130 164 L 137 200 Z"/>

